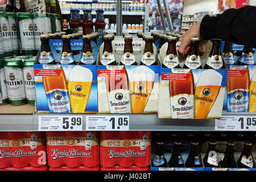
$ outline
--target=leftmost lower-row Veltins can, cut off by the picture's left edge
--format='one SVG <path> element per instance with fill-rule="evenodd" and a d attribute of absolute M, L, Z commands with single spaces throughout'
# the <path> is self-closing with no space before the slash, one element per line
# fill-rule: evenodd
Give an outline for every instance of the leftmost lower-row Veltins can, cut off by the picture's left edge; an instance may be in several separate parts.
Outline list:
<path fill-rule="evenodd" d="M 1 96 L 2 96 L 2 104 L 7 104 L 9 102 L 8 100 L 8 94 L 7 94 L 7 88 L 6 88 L 6 80 L 5 80 L 5 70 L 3 66 L 5 65 L 5 61 L 0 61 L 0 90 L 1 90 Z"/>

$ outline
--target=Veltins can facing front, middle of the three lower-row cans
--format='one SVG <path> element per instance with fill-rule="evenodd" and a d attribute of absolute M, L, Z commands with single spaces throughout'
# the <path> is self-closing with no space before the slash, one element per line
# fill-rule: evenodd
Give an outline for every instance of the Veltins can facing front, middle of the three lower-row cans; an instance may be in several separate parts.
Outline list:
<path fill-rule="evenodd" d="M 7 59 L 5 63 L 6 88 L 11 105 L 26 104 L 22 60 Z"/>

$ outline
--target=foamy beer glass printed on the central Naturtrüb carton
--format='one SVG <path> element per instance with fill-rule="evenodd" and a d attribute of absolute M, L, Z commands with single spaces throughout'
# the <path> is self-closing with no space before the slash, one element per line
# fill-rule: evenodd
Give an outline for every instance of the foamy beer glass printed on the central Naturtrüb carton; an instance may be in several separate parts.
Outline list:
<path fill-rule="evenodd" d="M 130 79 L 131 109 L 143 113 L 154 86 L 155 72 L 146 66 L 134 68 Z"/>

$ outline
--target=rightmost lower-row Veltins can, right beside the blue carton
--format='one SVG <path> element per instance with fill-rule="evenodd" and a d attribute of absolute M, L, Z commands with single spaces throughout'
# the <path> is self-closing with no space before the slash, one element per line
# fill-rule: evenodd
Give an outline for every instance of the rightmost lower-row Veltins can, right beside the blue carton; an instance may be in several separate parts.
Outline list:
<path fill-rule="evenodd" d="M 35 105 L 35 77 L 34 77 L 34 59 L 24 59 L 23 76 L 26 90 L 27 104 Z"/>

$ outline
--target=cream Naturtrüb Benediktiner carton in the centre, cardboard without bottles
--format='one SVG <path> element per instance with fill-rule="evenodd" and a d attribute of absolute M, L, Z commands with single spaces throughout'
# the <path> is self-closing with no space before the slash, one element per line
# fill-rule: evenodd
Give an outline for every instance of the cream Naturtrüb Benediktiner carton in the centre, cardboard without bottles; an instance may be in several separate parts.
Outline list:
<path fill-rule="evenodd" d="M 156 113 L 159 88 L 159 63 L 142 65 L 145 42 L 133 36 L 130 63 L 129 53 L 124 53 L 125 39 L 112 40 L 114 59 L 117 65 L 102 65 L 104 44 L 98 55 L 98 112 L 99 113 Z M 154 53 L 148 54 L 157 59 L 155 45 Z M 123 55 L 129 59 L 123 61 Z M 111 61 L 113 62 L 113 61 Z"/>

